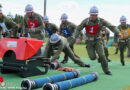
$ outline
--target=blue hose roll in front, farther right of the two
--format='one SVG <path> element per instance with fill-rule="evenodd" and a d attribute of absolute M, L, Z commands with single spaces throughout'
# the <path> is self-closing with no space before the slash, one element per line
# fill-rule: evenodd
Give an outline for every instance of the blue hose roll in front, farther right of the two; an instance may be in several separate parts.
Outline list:
<path fill-rule="evenodd" d="M 97 80 L 97 78 L 98 78 L 98 73 L 93 72 L 83 77 L 57 82 L 55 84 L 50 84 L 50 83 L 44 84 L 43 90 L 68 90 L 70 88 L 81 86 L 83 84 Z"/>

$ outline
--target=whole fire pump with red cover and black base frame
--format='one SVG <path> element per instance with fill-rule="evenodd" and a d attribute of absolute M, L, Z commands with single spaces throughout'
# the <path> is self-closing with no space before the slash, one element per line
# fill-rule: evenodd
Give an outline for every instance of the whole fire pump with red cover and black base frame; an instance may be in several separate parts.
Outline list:
<path fill-rule="evenodd" d="M 1 73 L 18 72 L 22 77 L 47 73 L 49 59 L 36 56 L 43 43 L 42 40 L 25 37 L 0 39 Z"/>

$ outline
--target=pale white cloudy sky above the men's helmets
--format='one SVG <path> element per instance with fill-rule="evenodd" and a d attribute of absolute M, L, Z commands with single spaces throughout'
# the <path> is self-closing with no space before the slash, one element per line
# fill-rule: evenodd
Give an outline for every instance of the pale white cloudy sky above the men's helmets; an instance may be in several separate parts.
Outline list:
<path fill-rule="evenodd" d="M 44 0 L 0 0 L 0 3 L 5 14 L 11 12 L 13 15 L 24 15 L 25 6 L 32 4 L 34 11 L 43 15 Z M 59 26 L 61 14 L 66 13 L 69 21 L 78 25 L 89 17 L 88 12 L 92 6 L 98 7 L 99 17 L 116 26 L 120 24 L 122 15 L 126 16 L 127 22 L 130 23 L 130 0 L 47 0 L 47 15 L 50 22 Z"/>

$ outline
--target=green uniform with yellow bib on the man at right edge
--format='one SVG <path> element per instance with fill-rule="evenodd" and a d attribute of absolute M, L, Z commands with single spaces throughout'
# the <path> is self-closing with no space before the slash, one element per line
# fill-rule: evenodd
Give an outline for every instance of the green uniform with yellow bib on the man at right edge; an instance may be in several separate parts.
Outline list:
<path fill-rule="evenodd" d="M 124 61 L 124 51 L 126 47 L 128 47 L 128 51 L 130 51 L 130 25 L 126 24 L 126 26 L 118 26 L 118 29 L 121 31 L 123 36 L 122 39 L 119 39 L 119 50 L 120 50 L 120 60 L 122 65 L 125 65 Z"/>

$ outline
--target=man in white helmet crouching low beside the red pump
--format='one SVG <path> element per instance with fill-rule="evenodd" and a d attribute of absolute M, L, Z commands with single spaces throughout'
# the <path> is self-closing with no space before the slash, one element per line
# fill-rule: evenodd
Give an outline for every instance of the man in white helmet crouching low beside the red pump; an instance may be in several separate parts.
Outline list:
<path fill-rule="evenodd" d="M 57 50 L 57 52 L 53 53 L 53 50 Z M 51 61 L 54 61 L 60 56 L 61 52 L 66 53 L 76 64 L 81 67 L 90 67 L 89 64 L 85 64 L 79 57 L 77 57 L 77 55 L 74 54 L 65 37 L 60 36 L 57 33 L 52 34 L 46 45 L 43 56 L 46 58 L 50 58 L 52 56 Z"/>

